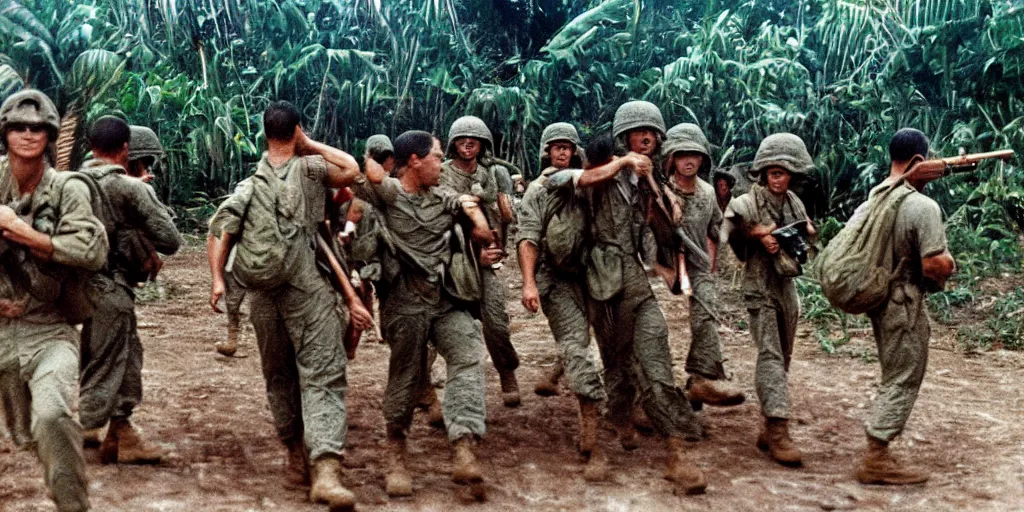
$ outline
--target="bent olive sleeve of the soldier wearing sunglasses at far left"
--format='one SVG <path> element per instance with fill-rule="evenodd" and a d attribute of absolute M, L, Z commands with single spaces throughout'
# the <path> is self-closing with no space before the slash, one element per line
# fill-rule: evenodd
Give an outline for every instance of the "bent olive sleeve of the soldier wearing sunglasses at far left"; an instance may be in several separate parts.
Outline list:
<path fill-rule="evenodd" d="M 60 191 L 57 219 L 50 243 L 52 260 L 62 265 L 99 270 L 106 264 L 110 242 L 102 221 L 92 212 L 89 186 L 78 179 L 68 179 Z"/>

